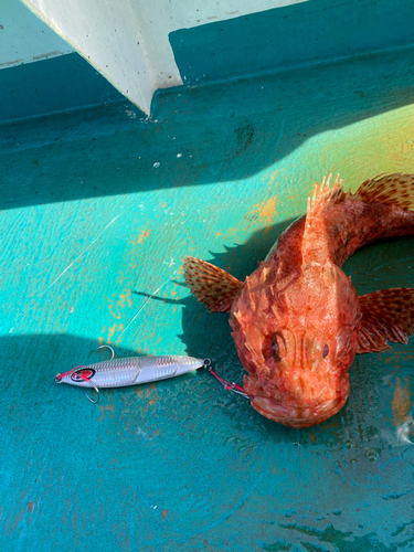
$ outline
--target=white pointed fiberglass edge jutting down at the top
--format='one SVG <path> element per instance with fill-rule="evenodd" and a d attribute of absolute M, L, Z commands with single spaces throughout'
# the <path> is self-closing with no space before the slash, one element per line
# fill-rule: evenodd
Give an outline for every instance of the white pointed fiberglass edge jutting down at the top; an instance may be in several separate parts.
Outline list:
<path fill-rule="evenodd" d="M 157 88 L 182 79 L 169 33 L 307 0 L 22 0 L 149 115 Z"/>

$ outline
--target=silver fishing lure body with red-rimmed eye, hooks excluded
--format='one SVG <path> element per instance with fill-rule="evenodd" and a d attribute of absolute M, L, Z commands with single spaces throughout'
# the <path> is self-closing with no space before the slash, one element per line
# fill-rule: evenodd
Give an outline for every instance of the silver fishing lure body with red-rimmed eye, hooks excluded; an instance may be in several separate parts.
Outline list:
<path fill-rule="evenodd" d="M 125 388 L 167 380 L 204 365 L 204 360 L 192 357 L 131 357 L 79 367 L 64 374 L 61 381 L 79 388 Z"/>

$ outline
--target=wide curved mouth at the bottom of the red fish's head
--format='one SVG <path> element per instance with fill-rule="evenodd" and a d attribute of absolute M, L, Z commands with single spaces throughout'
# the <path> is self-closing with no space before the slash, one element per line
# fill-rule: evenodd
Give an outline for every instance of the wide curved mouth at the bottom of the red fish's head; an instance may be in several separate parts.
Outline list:
<path fill-rule="evenodd" d="M 311 427 L 339 412 L 347 402 L 348 393 L 310 406 L 285 406 L 267 396 L 251 397 L 252 406 L 263 416 L 288 427 Z"/>

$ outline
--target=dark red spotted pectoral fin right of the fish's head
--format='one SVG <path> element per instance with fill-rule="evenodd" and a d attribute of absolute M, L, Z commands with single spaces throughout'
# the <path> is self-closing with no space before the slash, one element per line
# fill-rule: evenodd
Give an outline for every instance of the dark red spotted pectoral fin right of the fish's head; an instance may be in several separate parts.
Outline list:
<path fill-rule="evenodd" d="M 388 341 L 407 343 L 414 333 L 414 288 L 381 289 L 361 295 L 357 353 L 390 349 Z"/>

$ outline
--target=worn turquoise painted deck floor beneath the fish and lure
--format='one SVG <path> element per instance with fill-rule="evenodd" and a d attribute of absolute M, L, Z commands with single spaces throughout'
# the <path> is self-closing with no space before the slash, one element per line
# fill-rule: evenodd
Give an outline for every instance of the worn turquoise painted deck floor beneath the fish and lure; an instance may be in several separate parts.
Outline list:
<path fill-rule="evenodd" d="M 413 66 L 389 52 L 164 93 L 152 120 L 119 102 L 0 127 L 2 551 L 413 548 L 413 340 L 359 357 L 348 404 L 311 429 L 202 371 L 97 406 L 53 382 L 169 276 L 118 354 L 209 357 L 241 382 L 227 317 L 180 258 L 244 277 L 325 173 L 413 171 Z M 414 286 L 413 240 L 346 270 L 361 294 Z"/>

